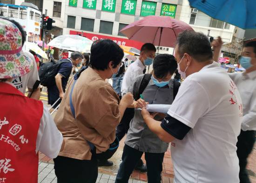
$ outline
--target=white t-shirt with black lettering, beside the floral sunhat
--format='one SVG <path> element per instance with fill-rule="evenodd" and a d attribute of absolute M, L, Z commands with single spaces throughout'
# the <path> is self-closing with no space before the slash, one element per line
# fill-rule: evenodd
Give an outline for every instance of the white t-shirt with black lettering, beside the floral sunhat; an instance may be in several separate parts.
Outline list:
<path fill-rule="evenodd" d="M 13 79 L 13 85 L 20 90 L 23 94 L 25 94 L 27 88 L 33 88 L 34 83 L 36 80 L 39 80 L 38 71 L 37 71 L 37 65 L 34 59 L 33 54 L 27 51 L 23 51 L 27 57 L 33 60 L 34 66 L 33 69 L 28 72 L 26 75 L 21 76 L 19 78 Z"/>

